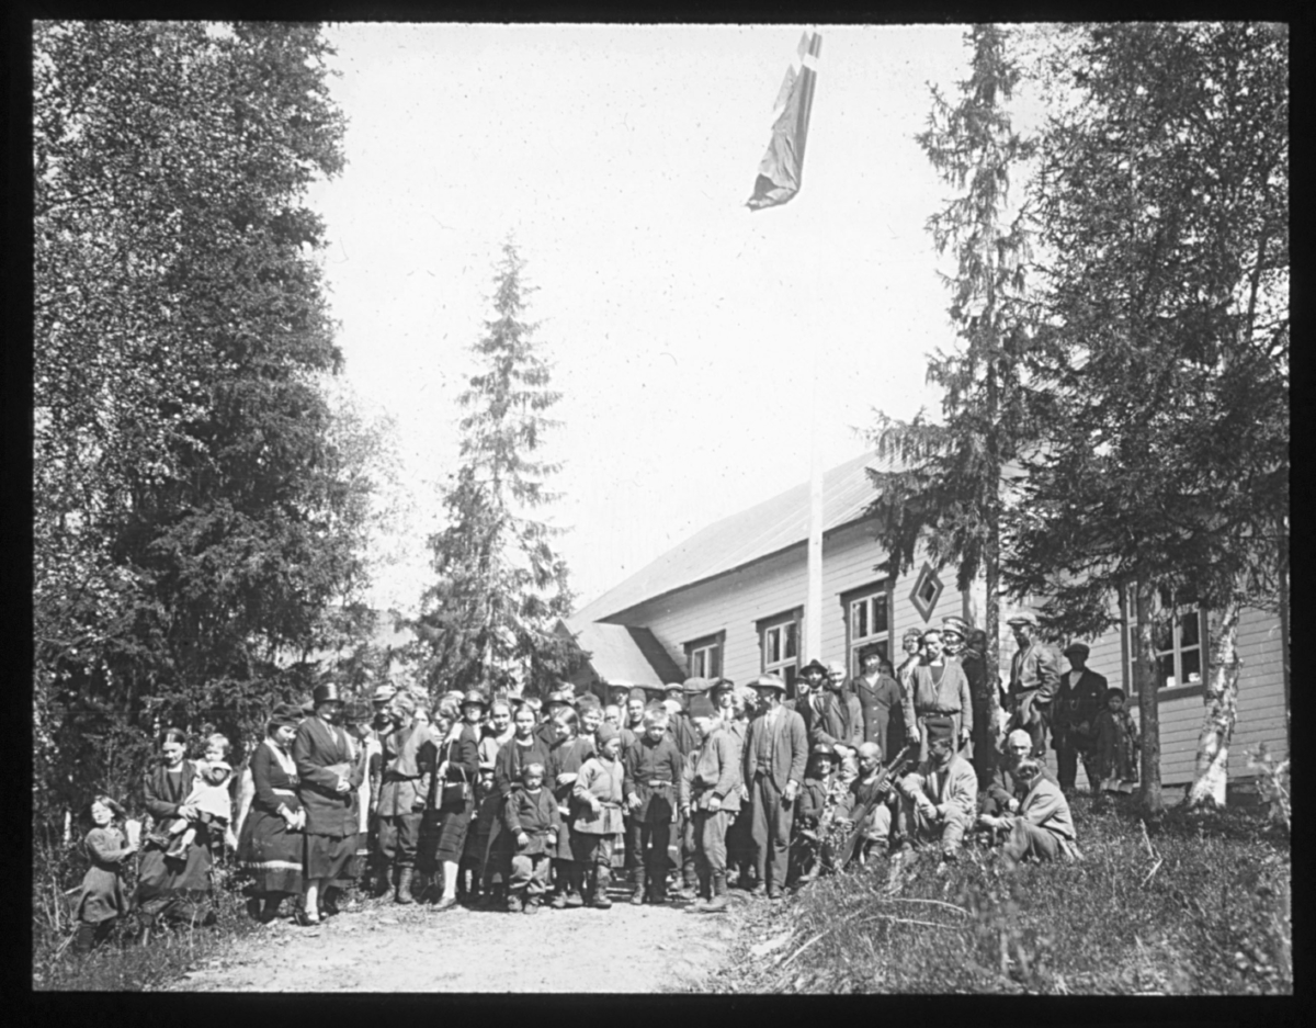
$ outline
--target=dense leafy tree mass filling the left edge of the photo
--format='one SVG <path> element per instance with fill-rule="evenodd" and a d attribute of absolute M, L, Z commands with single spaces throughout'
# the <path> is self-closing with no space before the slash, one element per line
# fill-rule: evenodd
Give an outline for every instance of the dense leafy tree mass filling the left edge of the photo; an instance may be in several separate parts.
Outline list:
<path fill-rule="evenodd" d="M 359 580 L 305 187 L 342 168 L 311 24 L 34 26 L 39 816 L 154 728 L 253 736 Z"/>

